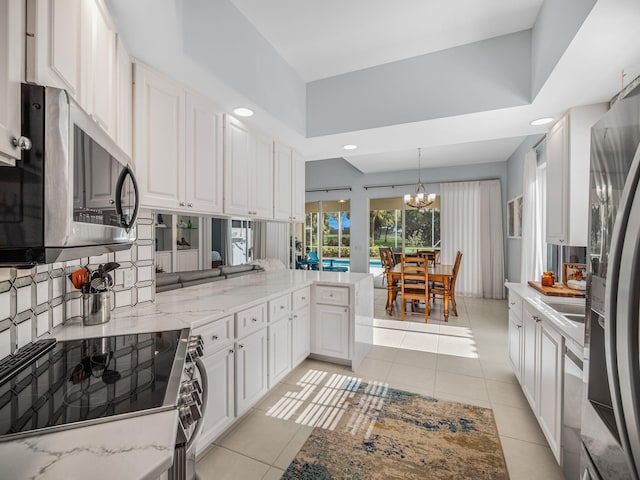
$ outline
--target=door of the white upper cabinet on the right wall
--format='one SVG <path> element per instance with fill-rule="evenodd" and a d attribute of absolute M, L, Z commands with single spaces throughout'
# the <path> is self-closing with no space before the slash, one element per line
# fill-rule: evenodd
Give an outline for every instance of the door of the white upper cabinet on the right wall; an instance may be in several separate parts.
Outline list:
<path fill-rule="evenodd" d="M 565 116 L 547 134 L 547 243 L 562 244 L 567 238 L 569 153 L 569 119 Z"/>

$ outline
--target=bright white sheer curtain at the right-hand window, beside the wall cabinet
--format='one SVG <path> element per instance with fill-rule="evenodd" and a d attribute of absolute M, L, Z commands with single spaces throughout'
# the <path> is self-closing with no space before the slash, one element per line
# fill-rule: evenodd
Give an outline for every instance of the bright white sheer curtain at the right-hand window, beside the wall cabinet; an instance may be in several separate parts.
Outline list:
<path fill-rule="evenodd" d="M 544 165 L 538 167 L 535 150 L 524 157 L 522 185 L 522 243 L 520 253 L 520 282 L 540 278 L 545 270 L 547 249 L 545 238 L 546 175 Z"/>

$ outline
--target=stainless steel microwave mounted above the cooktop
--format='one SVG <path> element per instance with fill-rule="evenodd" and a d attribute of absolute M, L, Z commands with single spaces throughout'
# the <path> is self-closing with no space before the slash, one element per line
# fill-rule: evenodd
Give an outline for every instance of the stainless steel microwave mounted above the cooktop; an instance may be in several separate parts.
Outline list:
<path fill-rule="evenodd" d="M 128 155 L 64 90 L 22 85 L 22 150 L 0 167 L 0 266 L 124 250 L 136 239 Z"/>

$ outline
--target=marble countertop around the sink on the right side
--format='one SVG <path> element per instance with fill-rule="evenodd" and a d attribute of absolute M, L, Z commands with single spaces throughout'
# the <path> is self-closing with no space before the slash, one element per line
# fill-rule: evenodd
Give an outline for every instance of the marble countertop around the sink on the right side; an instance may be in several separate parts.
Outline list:
<path fill-rule="evenodd" d="M 566 339 L 576 344 L 577 347 L 584 347 L 584 323 L 568 320 L 561 313 L 554 310 L 547 303 L 570 303 L 575 305 L 584 305 L 584 298 L 570 297 L 554 297 L 543 295 L 536 289 L 521 283 L 505 283 L 509 290 L 513 290 L 520 295 L 526 302 L 529 302 L 538 309 L 545 317 L 547 317 L 553 327 L 558 330 Z"/>

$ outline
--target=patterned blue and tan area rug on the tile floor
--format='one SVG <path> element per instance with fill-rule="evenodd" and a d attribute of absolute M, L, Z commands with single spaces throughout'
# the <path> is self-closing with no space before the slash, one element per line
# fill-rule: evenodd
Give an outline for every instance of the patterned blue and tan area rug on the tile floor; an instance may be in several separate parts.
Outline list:
<path fill-rule="evenodd" d="M 380 384 L 354 386 L 338 407 L 282 480 L 509 478 L 490 409 Z"/>

